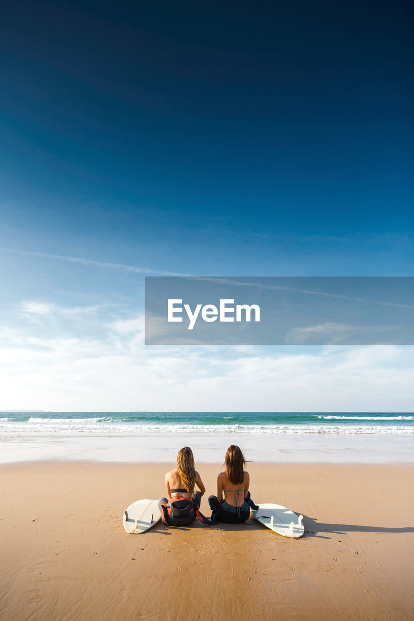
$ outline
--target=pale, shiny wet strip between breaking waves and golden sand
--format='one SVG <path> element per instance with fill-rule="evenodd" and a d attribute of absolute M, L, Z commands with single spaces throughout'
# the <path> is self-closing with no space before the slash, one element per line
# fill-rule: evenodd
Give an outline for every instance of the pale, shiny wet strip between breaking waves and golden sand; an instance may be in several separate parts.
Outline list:
<path fill-rule="evenodd" d="M 122 435 L 7 435 L 0 464 L 22 461 L 175 461 L 191 446 L 198 463 L 223 463 L 229 443 L 253 461 L 277 463 L 411 463 L 412 433 L 145 433 Z"/>

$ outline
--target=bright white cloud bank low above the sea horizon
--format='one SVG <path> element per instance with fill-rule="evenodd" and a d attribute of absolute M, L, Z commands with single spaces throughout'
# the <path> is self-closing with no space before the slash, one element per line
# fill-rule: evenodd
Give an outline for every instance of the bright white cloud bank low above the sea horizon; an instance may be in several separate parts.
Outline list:
<path fill-rule="evenodd" d="M 414 347 L 145 347 L 142 315 L 109 324 L 97 309 L 86 336 L 67 316 L 52 336 L 0 330 L 0 409 L 412 410 Z"/>

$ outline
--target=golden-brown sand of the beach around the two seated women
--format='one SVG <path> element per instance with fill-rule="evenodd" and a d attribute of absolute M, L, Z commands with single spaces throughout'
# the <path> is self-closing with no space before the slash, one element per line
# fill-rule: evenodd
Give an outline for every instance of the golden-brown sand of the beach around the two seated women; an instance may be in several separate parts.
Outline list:
<path fill-rule="evenodd" d="M 1 466 L 0 618 L 414 618 L 412 466 L 251 464 L 254 501 L 303 514 L 300 540 L 254 520 L 127 535 L 127 505 L 172 467 Z M 199 470 L 208 514 L 219 467 Z"/>

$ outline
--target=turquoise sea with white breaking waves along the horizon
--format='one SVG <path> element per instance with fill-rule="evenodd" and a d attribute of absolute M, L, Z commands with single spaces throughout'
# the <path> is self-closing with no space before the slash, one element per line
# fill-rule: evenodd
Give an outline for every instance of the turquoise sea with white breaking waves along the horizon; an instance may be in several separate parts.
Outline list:
<path fill-rule="evenodd" d="M 414 433 L 410 412 L 0 412 L 0 437 Z"/>

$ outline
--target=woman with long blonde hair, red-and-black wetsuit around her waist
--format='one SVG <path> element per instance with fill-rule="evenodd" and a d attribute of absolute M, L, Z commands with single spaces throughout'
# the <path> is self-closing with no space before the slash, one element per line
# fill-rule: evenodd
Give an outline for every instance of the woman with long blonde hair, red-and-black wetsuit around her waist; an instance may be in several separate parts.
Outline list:
<path fill-rule="evenodd" d="M 206 488 L 200 474 L 195 469 L 193 451 L 184 446 L 178 451 L 177 468 L 165 474 L 165 487 L 168 499 L 158 501 L 163 524 L 168 526 L 188 526 L 196 517 L 203 524 L 214 522 L 200 513 L 201 496 Z M 195 491 L 195 487 L 198 491 Z"/>

